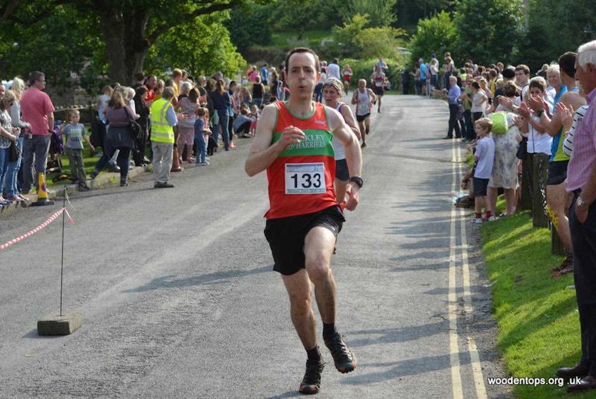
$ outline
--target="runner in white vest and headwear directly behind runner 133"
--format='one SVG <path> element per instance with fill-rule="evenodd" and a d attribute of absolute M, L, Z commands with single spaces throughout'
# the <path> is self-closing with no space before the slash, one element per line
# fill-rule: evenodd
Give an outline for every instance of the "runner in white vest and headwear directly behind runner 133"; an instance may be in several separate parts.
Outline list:
<path fill-rule="evenodd" d="M 327 79 L 327 82 L 323 85 L 323 98 L 325 99 L 325 105 L 339 112 L 356 135 L 356 138 L 360 140 L 360 129 L 358 129 L 352 110 L 346 103 L 339 101 L 342 98 L 342 82 L 335 78 Z M 346 185 L 350 180 L 350 174 L 347 169 L 346 150 L 343 143 L 336 137 L 333 138 L 333 151 L 336 158 L 336 175 L 333 185 L 336 190 L 336 200 L 338 203 L 342 203 L 346 198 Z"/>

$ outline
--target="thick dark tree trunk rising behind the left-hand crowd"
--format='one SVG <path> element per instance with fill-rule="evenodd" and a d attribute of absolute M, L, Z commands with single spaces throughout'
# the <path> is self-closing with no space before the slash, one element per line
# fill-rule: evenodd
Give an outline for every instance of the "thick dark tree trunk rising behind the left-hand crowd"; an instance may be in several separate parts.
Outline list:
<path fill-rule="evenodd" d="M 105 36 L 108 75 L 113 82 L 131 85 L 134 75 L 141 72 L 150 45 L 145 39 L 149 14 L 132 8 L 123 14 L 116 10 L 99 10 L 100 26 Z"/>

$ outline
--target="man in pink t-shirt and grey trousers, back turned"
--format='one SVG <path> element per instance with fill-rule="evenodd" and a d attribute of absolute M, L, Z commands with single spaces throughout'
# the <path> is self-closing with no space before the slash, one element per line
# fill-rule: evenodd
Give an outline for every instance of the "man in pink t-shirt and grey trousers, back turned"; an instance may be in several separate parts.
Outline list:
<path fill-rule="evenodd" d="M 51 134 L 54 132 L 54 104 L 45 89 L 43 72 L 32 72 L 29 75 L 29 86 L 21 98 L 23 120 L 29 122 L 31 129 L 25 134 L 23 143 L 23 193 L 28 194 L 39 172 L 45 173 L 48 165 L 48 151 Z M 35 175 L 32 165 L 35 162 Z"/>

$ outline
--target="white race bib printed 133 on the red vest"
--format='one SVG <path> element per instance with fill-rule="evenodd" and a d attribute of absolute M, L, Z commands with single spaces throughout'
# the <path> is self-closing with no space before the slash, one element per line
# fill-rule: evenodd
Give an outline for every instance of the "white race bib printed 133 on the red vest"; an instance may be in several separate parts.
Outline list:
<path fill-rule="evenodd" d="M 324 163 L 285 164 L 286 194 L 324 194 L 325 191 Z"/>

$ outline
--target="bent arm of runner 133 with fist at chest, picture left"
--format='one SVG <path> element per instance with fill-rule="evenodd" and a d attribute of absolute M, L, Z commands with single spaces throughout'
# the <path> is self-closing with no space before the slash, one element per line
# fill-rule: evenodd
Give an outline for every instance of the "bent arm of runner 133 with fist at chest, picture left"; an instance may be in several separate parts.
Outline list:
<path fill-rule="evenodd" d="M 305 137 L 300 129 L 288 126 L 284 129 L 280 140 L 271 144 L 276 121 L 277 109 L 274 104 L 269 104 L 259 117 L 249 157 L 244 163 L 244 171 L 250 177 L 267 169 L 287 146 L 300 143 L 300 140 Z"/>

